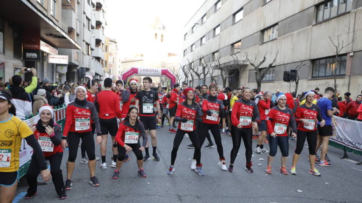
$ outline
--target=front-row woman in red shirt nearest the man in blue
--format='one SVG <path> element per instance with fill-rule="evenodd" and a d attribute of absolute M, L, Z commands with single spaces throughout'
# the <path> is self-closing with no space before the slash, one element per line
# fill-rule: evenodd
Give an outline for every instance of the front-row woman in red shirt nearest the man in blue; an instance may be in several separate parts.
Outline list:
<path fill-rule="evenodd" d="M 320 126 L 323 127 L 325 121 L 323 120 L 319 107 L 313 104 L 315 93 L 313 91 L 306 92 L 306 103 L 300 105 L 295 112 L 295 121 L 298 124 L 296 148 L 293 155 L 293 163 L 290 170 L 290 174 L 296 175 L 295 166 L 299 160 L 300 152 L 304 147 L 304 142 L 308 141 L 309 148 L 309 161 L 311 164 L 310 174 L 320 176 L 318 169 L 314 168 L 315 162 L 315 148 L 317 144 L 317 128 L 316 120 L 320 122 Z"/>

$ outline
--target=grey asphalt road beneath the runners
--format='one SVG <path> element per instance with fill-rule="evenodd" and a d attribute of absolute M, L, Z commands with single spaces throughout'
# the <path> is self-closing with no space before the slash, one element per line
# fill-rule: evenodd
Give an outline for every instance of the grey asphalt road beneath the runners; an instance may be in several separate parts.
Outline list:
<path fill-rule="evenodd" d="M 362 202 L 362 165 L 356 165 L 338 157 L 341 150 L 330 147 L 329 157 L 331 167 L 320 167 L 321 176 L 308 174 L 307 146 L 296 167 L 298 175 L 282 175 L 278 172 L 281 153 L 278 153 L 273 163 L 273 174 L 266 175 L 267 154 L 253 153 L 254 173 L 248 173 L 245 167 L 245 148 L 240 147 L 236 158 L 234 172 L 221 170 L 218 165 L 218 153 L 215 148 L 202 148 L 201 162 L 206 176 L 199 176 L 190 170 L 193 150 L 187 149 L 189 138 L 184 138 L 178 150 L 175 163 L 175 172 L 167 175 L 171 161 L 171 149 L 174 134 L 168 129 L 157 130 L 157 152 L 160 161 L 148 160 L 144 163 L 147 178 L 137 175 L 136 157 L 130 153 L 130 160 L 121 168 L 118 180 L 112 180 L 113 168 L 110 167 L 110 137 L 106 157 L 108 169 L 100 169 L 97 161 L 96 176 L 99 187 L 89 184 L 88 166 L 80 164 L 80 149 L 73 174 L 73 187 L 67 191 L 68 199 L 64 202 Z M 224 155 L 229 164 L 232 141 L 230 136 L 222 135 Z M 207 141 L 204 143 L 206 146 Z M 253 141 L 253 147 L 256 141 Z M 294 153 L 295 141 L 289 143 L 289 156 Z M 269 150 L 268 144 L 265 148 Z M 152 151 L 150 149 L 152 154 Z M 96 146 L 96 155 L 100 156 L 99 146 Z M 361 156 L 349 154 L 349 159 L 359 161 Z M 66 161 L 68 151 L 64 152 L 62 170 L 65 181 Z M 263 158 L 264 160 L 259 160 Z M 258 164 L 261 164 L 258 166 Z M 291 166 L 291 157 L 288 160 L 288 170 Z M 17 190 L 17 199 L 14 202 L 59 202 L 54 185 L 50 181 L 47 185 L 38 186 L 38 195 L 30 200 L 23 199 L 26 186 Z M 299 190 L 299 192 L 298 192 Z M 301 191 L 301 192 L 300 192 Z"/>

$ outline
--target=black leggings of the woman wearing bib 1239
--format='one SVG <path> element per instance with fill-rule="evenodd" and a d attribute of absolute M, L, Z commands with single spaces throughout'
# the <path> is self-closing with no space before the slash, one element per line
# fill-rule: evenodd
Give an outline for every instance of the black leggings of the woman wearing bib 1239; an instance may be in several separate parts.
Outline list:
<path fill-rule="evenodd" d="M 200 140 L 199 140 L 199 137 L 197 136 L 197 131 L 194 130 L 192 132 L 187 132 L 187 131 L 177 129 L 175 138 L 173 139 L 173 147 L 172 147 L 172 151 L 171 151 L 171 165 L 174 165 L 174 163 L 175 163 L 178 147 L 180 147 L 182 139 L 184 139 L 184 135 L 186 133 L 189 135 L 189 138 L 195 148 L 194 159 L 196 159 L 196 164 L 200 164 L 201 149 L 200 149 Z"/>

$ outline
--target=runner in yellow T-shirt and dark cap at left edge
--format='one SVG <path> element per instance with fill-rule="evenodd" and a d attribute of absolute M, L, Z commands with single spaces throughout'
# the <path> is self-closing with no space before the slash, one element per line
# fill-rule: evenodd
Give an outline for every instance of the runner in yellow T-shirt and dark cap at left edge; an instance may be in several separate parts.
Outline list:
<path fill-rule="evenodd" d="M 11 103 L 11 96 L 0 91 L 0 202 L 11 203 L 14 199 L 19 179 L 21 139 L 33 148 L 34 156 L 44 181 L 52 177 L 47 168 L 42 150 L 29 126 L 13 115 L 16 109 Z"/>

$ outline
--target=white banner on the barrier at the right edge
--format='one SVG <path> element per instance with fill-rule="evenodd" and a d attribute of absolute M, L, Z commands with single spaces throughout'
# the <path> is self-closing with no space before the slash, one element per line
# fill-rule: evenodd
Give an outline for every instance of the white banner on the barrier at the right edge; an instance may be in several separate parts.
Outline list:
<path fill-rule="evenodd" d="M 336 136 L 329 138 L 353 150 L 362 151 L 362 122 L 335 116 L 337 122 Z"/>

